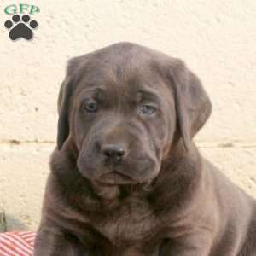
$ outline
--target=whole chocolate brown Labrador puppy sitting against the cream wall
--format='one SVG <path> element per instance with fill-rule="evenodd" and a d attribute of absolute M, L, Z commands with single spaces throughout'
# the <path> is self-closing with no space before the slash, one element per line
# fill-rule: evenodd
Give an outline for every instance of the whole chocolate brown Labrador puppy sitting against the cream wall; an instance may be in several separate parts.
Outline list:
<path fill-rule="evenodd" d="M 255 256 L 256 203 L 193 143 L 211 102 L 176 58 L 71 59 L 34 256 Z"/>

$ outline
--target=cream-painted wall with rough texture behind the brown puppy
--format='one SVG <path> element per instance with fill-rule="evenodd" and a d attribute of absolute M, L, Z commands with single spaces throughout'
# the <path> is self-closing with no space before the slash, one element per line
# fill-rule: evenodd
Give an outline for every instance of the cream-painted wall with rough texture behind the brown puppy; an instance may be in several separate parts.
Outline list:
<path fill-rule="evenodd" d="M 0 3 L 2 24 L 10 3 Z M 67 59 L 118 41 L 180 57 L 198 74 L 212 99 L 196 137 L 201 152 L 256 197 L 256 1 L 24 3 L 41 8 L 31 42 L 10 41 L 0 26 L 0 203 L 9 230 L 37 228 Z"/>

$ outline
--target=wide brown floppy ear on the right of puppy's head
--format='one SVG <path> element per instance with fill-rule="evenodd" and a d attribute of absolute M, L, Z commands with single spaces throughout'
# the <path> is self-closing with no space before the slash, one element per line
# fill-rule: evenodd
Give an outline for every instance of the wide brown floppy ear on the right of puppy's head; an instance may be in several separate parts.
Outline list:
<path fill-rule="evenodd" d="M 178 59 L 173 59 L 171 80 L 175 93 L 177 125 L 183 137 L 184 147 L 189 150 L 195 134 L 206 123 L 212 112 L 212 104 L 200 79 Z"/>

